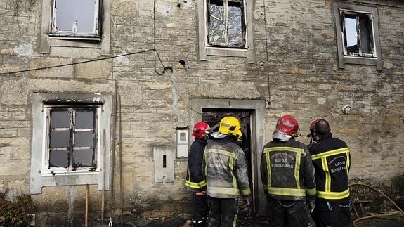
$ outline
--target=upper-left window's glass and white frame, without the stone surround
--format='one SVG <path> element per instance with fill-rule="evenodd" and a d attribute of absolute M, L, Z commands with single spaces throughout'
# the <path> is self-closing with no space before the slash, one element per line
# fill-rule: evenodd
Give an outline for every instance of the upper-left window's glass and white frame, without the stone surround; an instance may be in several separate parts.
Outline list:
<path fill-rule="evenodd" d="M 53 36 L 99 37 L 100 0 L 53 0 Z"/>

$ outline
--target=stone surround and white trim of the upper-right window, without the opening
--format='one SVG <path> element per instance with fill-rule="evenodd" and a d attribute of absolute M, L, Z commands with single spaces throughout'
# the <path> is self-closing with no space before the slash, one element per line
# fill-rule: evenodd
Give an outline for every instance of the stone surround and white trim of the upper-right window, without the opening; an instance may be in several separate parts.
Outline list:
<path fill-rule="evenodd" d="M 374 42 L 373 56 L 350 56 L 346 53 L 344 44 L 344 28 L 341 26 L 341 12 L 366 13 L 372 15 L 372 35 Z M 333 4 L 334 22 L 337 34 L 338 66 L 344 69 L 346 64 L 356 65 L 376 65 L 377 70 L 383 70 L 382 50 L 379 39 L 379 15 L 377 8 L 370 6 L 360 6 L 356 4 L 346 4 L 335 2 Z"/>

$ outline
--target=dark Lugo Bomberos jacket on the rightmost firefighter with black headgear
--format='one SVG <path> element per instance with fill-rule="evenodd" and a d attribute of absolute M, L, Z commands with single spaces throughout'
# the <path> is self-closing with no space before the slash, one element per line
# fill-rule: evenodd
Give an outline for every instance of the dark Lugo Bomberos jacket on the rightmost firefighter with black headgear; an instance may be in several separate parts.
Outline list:
<path fill-rule="evenodd" d="M 326 202 L 348 202 L 351 155 L 346 143 L 327 133 L 308 148 L 315 167 L 317 197 Z"/>

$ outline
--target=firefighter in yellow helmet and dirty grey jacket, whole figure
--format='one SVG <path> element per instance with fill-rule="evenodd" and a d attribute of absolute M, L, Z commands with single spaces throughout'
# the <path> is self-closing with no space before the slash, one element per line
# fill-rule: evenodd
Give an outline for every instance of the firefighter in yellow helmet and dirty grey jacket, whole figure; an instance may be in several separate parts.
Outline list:
<path fill-rule="evenodd" d="M 214 139 L 208 141 L 204 151 L 209 227 L 237 225 L 240 195 L 244 196 L 245 206 L 251 205 L 247 163 L 237 145 L 242 138 L 241 128 L 237 118 L 223 117 L 219 131 L 211 134 Z"/>

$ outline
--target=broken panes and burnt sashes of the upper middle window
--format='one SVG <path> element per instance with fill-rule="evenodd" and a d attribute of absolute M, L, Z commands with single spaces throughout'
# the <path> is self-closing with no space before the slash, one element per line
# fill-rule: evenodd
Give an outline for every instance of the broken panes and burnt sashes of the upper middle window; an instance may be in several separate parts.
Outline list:
<path fill-rule="evenodd" d="M 208 44 L 245 47 L 245 12 L 242 0 L 207 1 Z"/>

